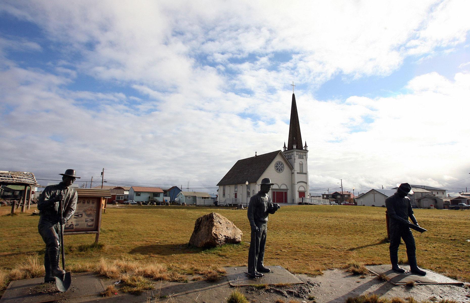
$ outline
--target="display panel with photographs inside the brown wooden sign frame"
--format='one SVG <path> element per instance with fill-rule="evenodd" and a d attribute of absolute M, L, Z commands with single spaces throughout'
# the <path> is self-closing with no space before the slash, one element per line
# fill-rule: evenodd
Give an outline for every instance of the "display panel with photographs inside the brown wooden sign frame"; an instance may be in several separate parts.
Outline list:
<path fill-rule="evenodd" d="M 65 224 L 63 233 L 98 232 L 101 217 L 100 197 L 80 197 L 77 209 Z"/>

